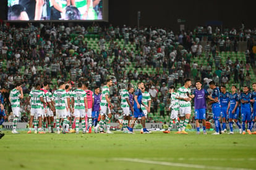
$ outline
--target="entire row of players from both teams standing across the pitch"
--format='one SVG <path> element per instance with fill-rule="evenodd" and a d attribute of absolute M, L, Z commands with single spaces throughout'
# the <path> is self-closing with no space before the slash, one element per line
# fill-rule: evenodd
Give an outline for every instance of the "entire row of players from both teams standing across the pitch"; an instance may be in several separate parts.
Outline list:
<path fill-rule="evenodd" d="M 34 125 L 35 133 L 45 134 L 46 123 L 48 123 L 48 132 L 54 132 L 54 113 L 56 116 L 56 130 L 60 134 L 60 124 L 62 133 L 76 132 L 79 134 L 79 122 L 82 122 L 83 133 L 92 133 L 92 127 L 95 133 L 100 129 L 100 133 L 111 134 L 110 119 L 112 117 L 111 109 L 113 105 L 109 100 L 109 87 L 113 85 L 111 79 L 106 81 L 106 85 L 102 88 L 95 87 L 95 91 L 88 90 L 88 83 L 77 84 L 77 89 L 70 91 L 72 86 L 59 83 L 59 89 L 54 91 L 53 95 L 49 90 L 47 82 L 43 83 L 41 88 L 40 83 L 36 83 L 35 90 L 30 91 L 29 100 L 31 104 L 30 121 L 28 134 L 32 132 L 32 124 Z M 211 95 L 207 90 L 202 88 L 200 81 L 195 82 L 196 89 L 191 93 L 190 86 L 192 85 L 190 79 L 186 79 L 184 86 L 175 92 L 175 87 L 169 87 L 171 95 L 171 122 L 168 130 L 164 133 L 169 134 L 173 122 L 177 125 L 178 131 L 176 134 L 187 134 L 185 131 L 187 124 L 189 124 L 191 114 L 191 101 L 194 98 L 195 104 L 195 120 L 197 127 L 197 134 L 200 134 L 199 120 L 202 120 L 203 134 L 206 131 L 206 109 L 207 99 L 210 100 L 211 110 L 213 113 L 213 121 L 215 123 L 216 132 L 214 135 L 226 133 L 226 121 L 229 122 L 229 134 L 234 134 L 233 123 L 236 122 L 239 127 L 240 134 L 245 134 L 245 124 L 247 123 L 248 134 L 252 133 L 252 127 L 256 121 L 256 83 L 252 83 L 252 93 L 249 92 L 249 87 L 244 87 L 243 92 L 238 94 L 236 86 L 231 87 L 231 93 L 226 91 L 225 86 L 220 89 L 216 87 L 215 82 L 210 82 L 209 86 L 212 90 Z M 137 90 L 135 90 L 131 83 L 128 83 L 126 88 L 121 91 L 121 108 L 123 111 L 123 125 L 124 133 L 134 134 L 133 127 L 137 119 L 141 119 L 143 126 L 142 132 L 144 134 L 150 133 L 145 128 L 145 121 L 147 113 L 150 112 L 150 95 L 145 91 L 144 84 L 139 82 Z M 9 100 L 11 101 L 12 112 L 14 114 L 13 134 L 18 134 L 17 118 L 20 116 L 20 98 L 23 98 L 23 92 L 20 83 L 15 85 L 11 90 Z M 252 106 L 252 107 L 251 107 Z M 239 113 L 242 117 L 242 126 L 239 122 Z M 98 116 L 101 115 L 101 120 L 98 122 Z M 179 121 L 178 121 L 179 116 Z M 132 118 L 133 117 L 133 118 Z M 220 125 L 220 118 L 222 119 L 222 128 Z"/>

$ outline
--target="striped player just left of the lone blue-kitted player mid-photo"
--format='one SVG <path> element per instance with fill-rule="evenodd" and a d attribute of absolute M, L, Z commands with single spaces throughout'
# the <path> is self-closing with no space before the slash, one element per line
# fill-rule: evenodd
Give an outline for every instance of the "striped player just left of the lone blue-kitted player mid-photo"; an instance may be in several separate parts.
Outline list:
<path fill-rule="evenodd" d="M 124 119 L 122 121 L 123 124 L 123 128 L 124 128 L 124 133 L 128 133 L 128 129 L 127 129 L 127 125 L 128 122 L 130 120 L 130 111 L 132 111 L 132 113 L 134 112 L 134 108 L 132 106 L 132 104 L 130 103 L 129 100 L 129 90 L 130 88 L 132 88 L 132 85 L 130 83 L 127 84 L 127 89 L 124 88 L 121 93 L 121 108 L 123 111 L 123 116 Z"/>

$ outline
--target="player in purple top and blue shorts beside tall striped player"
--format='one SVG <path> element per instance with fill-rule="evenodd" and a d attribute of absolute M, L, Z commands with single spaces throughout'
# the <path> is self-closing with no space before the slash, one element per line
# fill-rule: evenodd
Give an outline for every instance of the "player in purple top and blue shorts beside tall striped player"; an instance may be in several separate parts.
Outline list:
<path fill-rule="evenodd" d="M 200 124 L 199 120 L 202 120 L 203 123 L 203 134 L 206 135 L 206 109 L 207 109 L 207 103 L 206 103 L 206 96 L 210 96 L 207 90 L 202 89 L 202 83 L 200 80 L 195 82 L 195 87 L 197 89 L 194 90 L 194 93 L 192 95 L 192 98 L 194 98 L 195 103 L 195 125 L 197 126 L 197 134 L 200 134 Z M 211 97 L 209 97 L 211 98 Z"/>

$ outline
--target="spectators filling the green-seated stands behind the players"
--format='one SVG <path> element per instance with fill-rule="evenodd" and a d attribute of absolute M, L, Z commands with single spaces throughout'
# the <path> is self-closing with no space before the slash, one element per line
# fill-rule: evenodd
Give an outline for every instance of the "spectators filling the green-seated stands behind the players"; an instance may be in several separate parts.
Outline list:
<path fill-rule="evenodd" d="M 210 25 L 194 30 L 174 33 L 171 29 L 157 27 L 122 27 L 93 23 L 88 27 L 69 27 L 61 23 L 28 23 L 15 27 L 3 23 L 0 28 L 1 93 L 4 95 L 6 121 L 12 121 L 9 91 L 15 83 L 22 84 L 21 122 L 27 122 L 30 114 L 28 94 L 35 83 L 51 82 L 51 90 L 58 89 L 59 82 L 89 82 L 89 88 L 103 87 L 112 79 L 110 87 L 114 120 L 122 113 L 118 96 L 122 85 L 128 82 L 145 83 L 151 96 L 150 111 L 155 115 L 169 115 L 168 87 L 181 87 L 186 78 L 202 80 L 203 88 L 214 80 L 218 85 L 233 82 L 250 87 L 249 67 L 254 67 L 254 39 L 256 28 L 220 28 Z M 95 43 L 91 45 L 90 43 Z M 246 62 L 230 57 L 221 62 L 223 51 L 238 51 L 238 44 L 247 41 Z M 120 43 L 121 42 L 121 43 Z M 205 45 L 205 46 L 202 46 Z M 191 62 L 199 58 L 207 60 L 207 66 Z M 250 65 L 252 64 L 252 65 Z M 145 69 L 153 70 L 147 72 Z M 195 89 L 193 85 L 192 89 Z M 154 121 L 151 117 L 148 121 Z"/>

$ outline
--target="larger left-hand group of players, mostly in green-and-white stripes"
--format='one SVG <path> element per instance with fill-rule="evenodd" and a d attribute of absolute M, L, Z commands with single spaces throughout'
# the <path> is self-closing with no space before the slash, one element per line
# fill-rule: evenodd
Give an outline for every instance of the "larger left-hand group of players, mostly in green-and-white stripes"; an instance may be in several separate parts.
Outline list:
<path fill-rule="evenodd" d="M 54 133 L 54 126 L 58 134 L 61 132 L 79 134 L 80 121 L 83 134 L 92 133 L 92 127 L 95 133 L 105 134 L 104 129 L 106 128 L 106 133 L 112 134 L 110 120 L 113 105 L 109 99 L 109 87 L 112 85 L 111 79 L 106 80 L 106 85 L 100 93 L 100 87 L 95 87 L 94 92 L 88 90 L 88 83 L 79 82 L 77 89 L 71 91 L 72 86 L 69 83 L 60 82 L 58 84 L 59 89 L 52 94 L 49 91 L 48 82 L 44 82 L 43 85 L 36 83 L 35 90 L 30 91 L 28 96 L 31 109 L 27 134 L 31 134 L 32 130 L 35 134 L 45 134 L 46 127 L 48 127 L 49 133 Z M 142 103 L 143 90 L 145 90 L 143 83 L 138 83 L 138 89 L 135 91 L 135 95 L 132 95 L 134 87 L 129 83 L 127 88 L 121 92 L 124 133 L 134 134 L 134 122 L 139 117 L 142 119 L 143 133 L 150 133 L 145 128 L 145 114 L 147 116 L 149 110 L 147 104 Z M 20 116 L 20 99 L 22 98 L 21 84 L 17 83 L 15 88 L 11 90 L 9 97 L 14 114 L 12 134 L 19 134 L 16 128 L 17 119 Z M 99 114 L 100 122 L 98 122 Z M 133 120 L 130 121 L 132 114 Z"/>

